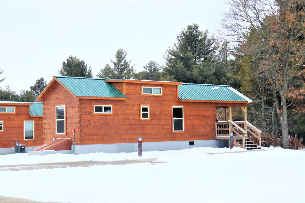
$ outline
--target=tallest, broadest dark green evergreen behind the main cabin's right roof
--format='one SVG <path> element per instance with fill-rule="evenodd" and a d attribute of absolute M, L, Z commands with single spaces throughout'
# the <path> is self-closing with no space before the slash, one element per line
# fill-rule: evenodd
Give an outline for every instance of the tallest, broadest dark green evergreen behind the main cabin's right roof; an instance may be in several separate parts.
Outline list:
<path fill-rule="evenodd" d="M 188 25 L 176 37 L 174 47 L 167 49 L 166 74 L 179 82 L 213 83 L 212 62 L 217 43 L 208 37 L 208 30 L 199 30 L 197 24 Z"/>

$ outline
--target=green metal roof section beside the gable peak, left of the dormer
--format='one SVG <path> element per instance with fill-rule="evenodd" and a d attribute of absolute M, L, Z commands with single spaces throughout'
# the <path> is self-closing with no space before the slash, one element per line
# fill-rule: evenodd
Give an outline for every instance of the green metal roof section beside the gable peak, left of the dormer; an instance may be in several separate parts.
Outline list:
<path fill-rule="evenodd" d="M 127 97 L 100 78 L 54 77 L 75 96 Z"/>

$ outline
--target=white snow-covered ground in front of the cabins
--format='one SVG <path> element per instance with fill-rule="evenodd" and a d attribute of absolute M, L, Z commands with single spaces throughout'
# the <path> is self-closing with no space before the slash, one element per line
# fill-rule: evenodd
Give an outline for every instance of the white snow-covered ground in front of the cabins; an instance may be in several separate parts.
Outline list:
<path fill-rule="evenodd" d="M 263 149 L 192 148 L 142 157 L 1 155 L 1 166 L 150 158 L 165 163 L 1 171 L 0 195 L 45 202 L 305 202 L 305 151 Z"/>

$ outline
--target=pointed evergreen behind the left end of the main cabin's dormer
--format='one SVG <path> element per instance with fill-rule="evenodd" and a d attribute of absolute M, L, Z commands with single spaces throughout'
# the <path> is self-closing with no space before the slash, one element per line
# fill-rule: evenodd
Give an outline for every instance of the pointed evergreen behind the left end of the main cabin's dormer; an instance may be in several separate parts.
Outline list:
<path fill-rule="evenodd" d="M 123 79 L 131 78 L 135 74 L 134 66 L 130 66 L 131 60 L 127 61 L 127 52 L 123 49 L 118 49 L 115 55 L 115 60 L 110 59 L 113 67 L 105 64 L 105 67 L 100 69 L 96 74 L 99 78 Z"/>

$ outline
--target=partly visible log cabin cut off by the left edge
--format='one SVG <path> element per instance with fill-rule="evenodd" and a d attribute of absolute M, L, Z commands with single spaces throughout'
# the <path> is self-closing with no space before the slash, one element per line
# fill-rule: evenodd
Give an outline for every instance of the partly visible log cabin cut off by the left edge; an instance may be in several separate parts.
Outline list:
<path fill-rule="evenodd" d="M 16 142 L 26 152 L 43 144 L 43 104 L 0 101 L 0 154 L 15 153 Z"/>

